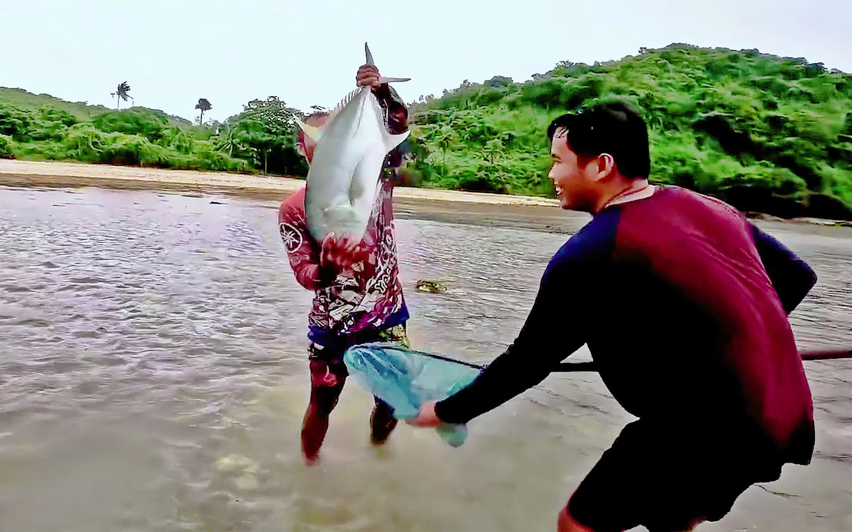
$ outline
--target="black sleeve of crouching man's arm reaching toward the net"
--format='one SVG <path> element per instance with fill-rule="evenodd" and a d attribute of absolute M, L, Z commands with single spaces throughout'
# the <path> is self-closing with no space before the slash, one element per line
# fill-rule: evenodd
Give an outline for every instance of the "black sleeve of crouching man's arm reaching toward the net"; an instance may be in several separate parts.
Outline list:
<path fill-rule="evenodd" d="M 582 268 L 586 269 L 586 268 Z M 533 308 L 511 346 L 469 386 L 435 404 L 447 423 L 466 423 L 544 380 L 585 343 L 582 291 L 589 280 L 569 261 L 548 266 Z M 570 287 L 570 288 L 569 288 Z"/>

